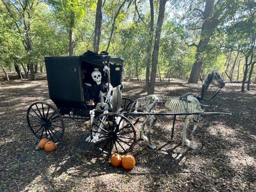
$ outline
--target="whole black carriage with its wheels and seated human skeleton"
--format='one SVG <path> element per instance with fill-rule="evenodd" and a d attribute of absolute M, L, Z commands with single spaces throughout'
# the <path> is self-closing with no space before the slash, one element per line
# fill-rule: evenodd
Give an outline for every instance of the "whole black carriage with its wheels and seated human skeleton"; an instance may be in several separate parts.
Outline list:
<path fill-rule="evenodd" d="M 91 120 L 87 141 L 106 154 L 131 151 L 136 132 L 133 122 L 125 117 L 132 100 L 121 95 L 123 61 L 119 56 L 91 51 L 81 56 L 45 57 L 49 97 L 56 107 L 38 101 L 27 109 L 28 126 L 38 141 L 48 138 L 60 142 L 64 120 Z M 94 81 L 99 74 L 100 84 Z M 107 95 L 113 98 L 107 101 Z"/>

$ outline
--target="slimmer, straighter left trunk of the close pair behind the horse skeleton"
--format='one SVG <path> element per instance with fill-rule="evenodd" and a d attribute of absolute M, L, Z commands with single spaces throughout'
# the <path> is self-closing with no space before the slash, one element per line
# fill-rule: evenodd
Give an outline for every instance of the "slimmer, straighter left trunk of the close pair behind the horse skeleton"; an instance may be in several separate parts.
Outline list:
<path fill-rule="evenodd" d="M 147 42 L 147 59 L 146 59 L 146 91 L 149 87 L 149 73 L 150 73 L 150 64 L 151 64 L 151 49 L 153 43 L 153 34 L 154 34 L 154 2 L 149 0 L 150 3 L 150 24 L 149 24 L 149 39 Z"/>

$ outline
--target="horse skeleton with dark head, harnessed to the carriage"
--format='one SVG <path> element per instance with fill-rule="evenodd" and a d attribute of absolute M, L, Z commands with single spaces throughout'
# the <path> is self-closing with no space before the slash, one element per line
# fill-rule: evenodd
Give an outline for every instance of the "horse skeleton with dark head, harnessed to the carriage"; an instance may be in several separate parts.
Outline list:
<path fill-rule="evenodd" d="M 222 88 L 225 86 L 224 81 L 220 78 L 219 73 L 216 71 L 212 70 L 207 78 L 204 80 L 203 86 L 202 86 L 202 93 L 200 97 L 195 97 L 193 94 L 188 93 L 183 96 L 176 96 L 176 97 L 171 97 L 171 96 L 161 96 L 161 95 L 150 95 L 146 97 L 142 97 L 139 99 L 136 99 L 133 103 L 136 103 L 135 111 L 137 110 L 138 106 L 144 106 L 146 108 L 147 112 L 151 112 L 152 108 L 156 106 L 158 101 L 165 101 L 165 107 L 171 110 L 173 113 L 195 113 L 195 112 L 204 112 L 205 108 L 204 106 L 199 102 L 199 100 L 203 99 L 204 94 L 207 91 L 207 88 L 209 84 L 214 84 L 216 86 L 219 86 L 219 88 Z M 198 100 L 199 99 L 199 100 Z M 132 108 L 133 108 L 132 106 Z M 131 108 L 131 109 L 132 109 Z M 149 119 L 150 116 L 146 117 L 146 120 L 142 123 L 141 125 L 141 139 L 143 140 L 148 140 L 148 145 L 152 149 L 156 148 L 155 145 L 150 141 L 150 131 L 153 127 L 153 125 L 156 122 L 156 119 L 151 115 L 151 122 L 150 126 L 147 131 L 147 137 L 144 135 L 144 127 L 146 124 L 146 121 Z M 198 119 L 200 115 L 195 115 L 193 123 L 194 123 L 194 129 L 191 133 L 191 138 L 192 141 L 190 141 L 186 138 L 186 131 L 188 127 L 188 122 L 189 122 L 189 116 L 185 116 L 185 122 L 184 122 L 184 127 L 183 127 L 183 142 L 182 142 L 182 149 L 180 152 L 180 156 L 183 154 L 183 146 L 184 143 L 190 143 L 189 147 L 192 148 L 193 150 L 196 149 L 196 146 L 194 144 L 194 135 L 195 135 L 195 130 L 197 129 L 197 124 L 198 124 Z"/>

